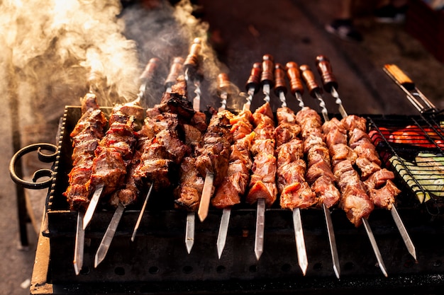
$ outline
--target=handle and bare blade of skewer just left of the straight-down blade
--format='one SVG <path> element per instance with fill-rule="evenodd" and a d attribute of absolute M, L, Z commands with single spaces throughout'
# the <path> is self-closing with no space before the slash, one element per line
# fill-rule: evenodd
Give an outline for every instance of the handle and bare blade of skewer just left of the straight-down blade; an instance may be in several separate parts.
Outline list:
<path fill-rule="evenodd" d="M 246 90 L 248 91 L 247 102 L 243 105 L 243 110 L 250 110 L 252 97 L 259 91 L 260 88 L 260 73 L 262 71 L 262 67 L 260 62 L 256 62 L 253 64 L 251 69 L 250 77 L 245 85 Z M 225 248 L 226 238 L 228 233 L 228 224 L 230 223 L 231 216 L 231 207 L 223 208 L 221 224 L 219 226 L 218 236 L 217 236 L 217 253 L 218 258 L 221 258 L 223 253 L 223 248 Z"/>

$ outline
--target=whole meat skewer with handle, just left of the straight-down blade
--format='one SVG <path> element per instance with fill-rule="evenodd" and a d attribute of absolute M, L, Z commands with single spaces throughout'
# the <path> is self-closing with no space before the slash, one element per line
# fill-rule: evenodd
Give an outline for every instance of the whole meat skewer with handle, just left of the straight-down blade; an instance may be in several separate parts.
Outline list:
<path fill-rule="evenodd" d="M 222 78 L 223 77 L 224 76 L 222 76 Z M 254 93 L 255 88 L 259 88 L 259 79 L 260 71 L 252 71 L 252 77 L 249 78 L 249 81 L 251 81 L 247 83 L 246 87 L 250 88 L 251 86 Z M 228 76 L 223 78 L 223 81 L 228 82 Z M 257 85 L 255 86 L 250 83 L 257 83 Z M 223 90 L 224 85 L 226 86 L 226 83 L 219 83 L 219 88 Z M 254 139 L 255 136 L 254 132 L 252 132 L 252 113 L 249 110 L 250 104 L 251 100 L 248 100 L 248 102 L 245 103 L 247 106 L 244 105 L 243 110 L 239 112 L 238 115 L 234 115 L 230 120 L 233 144 L 231 144 L 230 149 L 228 171 L 221 185 L 216 187 L 216 191 L 211 199 L 211 205 L 213 207 L 223 209 L 216 242 L 219 259 L 226 244 L 231 208 L 235 204 L 240 204 L 240 198 L 245 195 L 245 190 L 250 182 L 250 169 L 252 166 L 250 147 L 252 139 Z"/>

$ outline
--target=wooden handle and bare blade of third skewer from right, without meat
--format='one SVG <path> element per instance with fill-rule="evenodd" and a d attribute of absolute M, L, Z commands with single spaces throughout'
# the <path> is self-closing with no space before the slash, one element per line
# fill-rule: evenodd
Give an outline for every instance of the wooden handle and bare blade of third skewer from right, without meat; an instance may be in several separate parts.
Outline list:
<path fill-rule="evenodd" d="M 304 100 L 302 100 L 302 93 L 304 93 L 304 86 L 302 85 L 301 75 L 299 73 L 299 67 L 296 62 L 287 62 L 287 77 L 289 79 L 290 91 L 299 101 L 299 107 L 304 108 Z M 340 278 L 340 263 L 338 256 L 338 248 L 336 247 L 335 232 L 333 230 L 333 222 L 331 221 L 331 212 L 326 204 L 322 204 L 322 210 L 326 219 L 328 243 L 330 244 L 331 259 L 333 261 L 333 270 L 336 277 Z"/>

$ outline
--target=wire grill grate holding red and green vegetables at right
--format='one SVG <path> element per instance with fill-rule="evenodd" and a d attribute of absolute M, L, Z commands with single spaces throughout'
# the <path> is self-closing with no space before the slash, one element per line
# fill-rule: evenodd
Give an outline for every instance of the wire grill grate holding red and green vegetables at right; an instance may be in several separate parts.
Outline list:
<path fill-rule="evenodd" d="M 379 154 L 428 212 L 444 206 L 444 116 L 367 117 Z"/>

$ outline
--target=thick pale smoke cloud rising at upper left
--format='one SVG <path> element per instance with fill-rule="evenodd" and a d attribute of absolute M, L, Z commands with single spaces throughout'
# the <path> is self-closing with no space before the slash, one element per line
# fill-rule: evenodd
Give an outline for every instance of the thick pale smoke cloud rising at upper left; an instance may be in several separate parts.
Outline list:
<path fill-rule="evenodd" d="M 189 0 L 176 6 L 160 0 L 150 9 L 140 2 L 123 9 L 118 0 L 0 0 L 0 10 L 0 63 L 10 69 L 21 122 L 33 128 L 57 129 L 65 105 L 79 105 L 92 78 L 104 93 L 100 105 L 134 100 L 152 57 L 162 64 L 147 91 L 157 103 L 172 60 L 186 57 L 195 37 L 204 41 L 208 91 L 215 93 L 213 81 L 224 69 L 207 45 L 208 25 L 192 16 Z"/>

